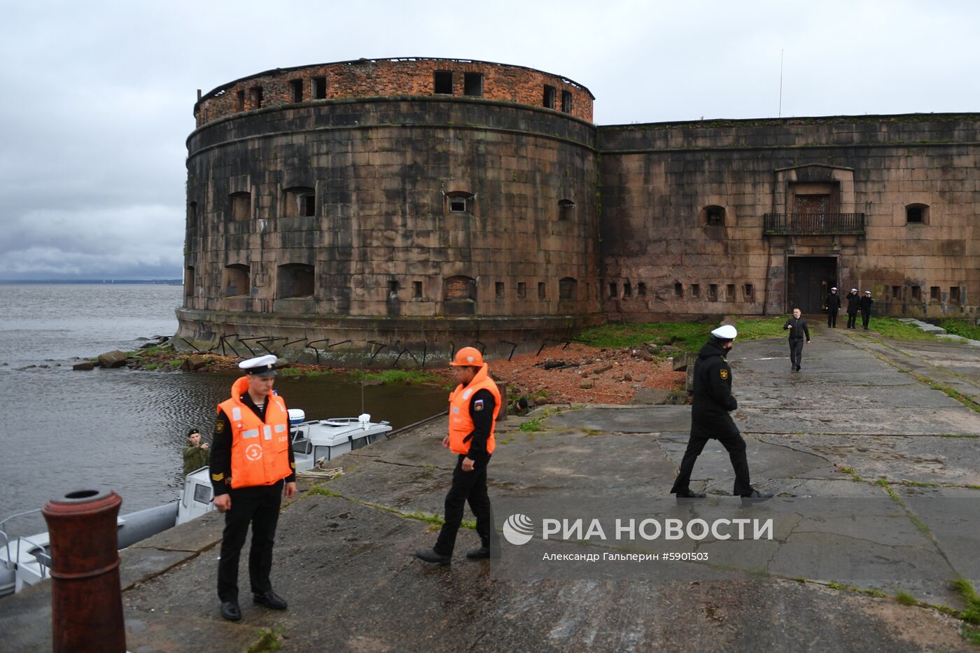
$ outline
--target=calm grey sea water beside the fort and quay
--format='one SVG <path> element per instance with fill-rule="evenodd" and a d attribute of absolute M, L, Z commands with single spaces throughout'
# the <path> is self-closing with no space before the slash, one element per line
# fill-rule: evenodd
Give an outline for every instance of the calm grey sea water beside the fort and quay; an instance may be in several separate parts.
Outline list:
<path fill-rule="evenodd" d="M 236 375 L 73 372 L 72 363 L 135 349 L 141 337 L 172 335 L 181 293 L 169 285 L 0 284 L 0 383 L 7 394 L 0 519 L 92 486 L 115 489 L 123 513 L 176 498 L 186 431 L 199 427 L 210 439 L 215 407 Z M 342 378 L 281 378 L 276 389 L 311 420 L 361 413 L 361 386 Z M 368 386 L 364 393 L 367 412 L 393 427 L 446 406 L 445 391 L 432 388 Z"/>

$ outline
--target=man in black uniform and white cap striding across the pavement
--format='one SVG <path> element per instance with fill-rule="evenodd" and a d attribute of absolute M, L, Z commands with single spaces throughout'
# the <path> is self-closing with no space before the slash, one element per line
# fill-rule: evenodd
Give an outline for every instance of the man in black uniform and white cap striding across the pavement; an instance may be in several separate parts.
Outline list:
<path fill-rule="evenodd" d="M 691 403 L 691 436 L 687 441 L 687 450 L 681 460 L 680 470 L 674 479 L 671 494 L 677 498 L 703 498 L 703 492 L 691 491 L 691 473 L 698 456 L 705 449 L 710 439 L 721 442 L 728 451 L 728 458 L 735 470 L 735 485 L 733 493 L 743 497 L 770 497 L 762 493 L 749 482 L 749 461 L 746 458 L 745 440 L 739 433 L 738 427 L 731 416 L 731 411 L 738 408 L 738 402 L 732 396 L 732 372 L 728 367 L 725 355 L 732 348 L 732 341 L 738 331 L 734 326 L 719 326 L 711 331 L 709 340 L 694 364 L 694 397 Z"/>

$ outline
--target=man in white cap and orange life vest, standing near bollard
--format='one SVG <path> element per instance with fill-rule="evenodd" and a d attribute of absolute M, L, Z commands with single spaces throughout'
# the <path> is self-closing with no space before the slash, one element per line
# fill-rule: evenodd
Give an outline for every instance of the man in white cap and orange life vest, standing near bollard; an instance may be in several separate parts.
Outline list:
<path fill-rule="evenodd" d="M 238 560 L 250 524 L 253 602 L 286 609 L 286 601 L 272 591 L 270 572 L 282 496 L 296 494 L 296 462 L 285 403 L 272 392 L 275 361 L 275 356 L 259 356 L 240 363 L 246 376 L 232 385 L 231 398 L 219 405 L 215 421 L 211 484 L 215 507 L 224 513 L 218 597 L 221 616 L 229 621 L 241 619 Z"/>

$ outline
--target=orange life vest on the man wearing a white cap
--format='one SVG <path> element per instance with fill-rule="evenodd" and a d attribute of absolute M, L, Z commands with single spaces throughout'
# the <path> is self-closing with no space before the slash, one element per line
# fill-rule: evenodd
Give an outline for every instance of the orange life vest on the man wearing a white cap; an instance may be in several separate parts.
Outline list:
<path fill-rule="evenodd" d="M 271 485 L 288 477 L 289 413 L 277 394 L 266 397 L 266 421 L 242 403 L 248 392 L 248 377 L 231 386 L 231 398 L 218 405 L 231 422 L 231 487 Z"/>

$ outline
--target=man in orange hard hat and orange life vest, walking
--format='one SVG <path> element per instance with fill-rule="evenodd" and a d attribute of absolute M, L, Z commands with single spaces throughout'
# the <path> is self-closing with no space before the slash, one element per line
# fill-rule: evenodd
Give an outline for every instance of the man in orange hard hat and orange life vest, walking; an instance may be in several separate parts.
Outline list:
<path fill-rule="evenodd" d="M 494 426 L 500 412 L 500 390 L 490 378 L 479 350 L 464 347 L 450 365 L 460 384 L 449 395 L 449 434 L 442 439 L 442 446 L 458 458 L 453 485 L 446 495 L 446 521 L 439 529 L 435 546 L 416 552 L 421 560 L 440 565 L 452 562 L 466 503 L 476 516 L 476 534 L 480 537 L 480 546 L 466 552 L 466 557 L 489 558 L 495 532 L 487 494 L 487 464 L 496 447 Z"/>

